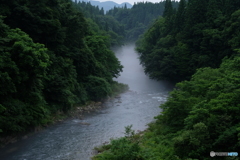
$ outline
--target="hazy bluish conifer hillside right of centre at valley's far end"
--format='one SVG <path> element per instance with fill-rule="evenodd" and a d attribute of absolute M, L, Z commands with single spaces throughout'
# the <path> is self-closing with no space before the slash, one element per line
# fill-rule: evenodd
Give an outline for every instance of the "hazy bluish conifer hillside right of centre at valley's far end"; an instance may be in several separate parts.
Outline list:
<path fill-rule="evenodd" d="M 178 7 L 178 1 L 172 2 L 173 12 Z M 152 24 L 156 18 L 163 15 L 165 1 L 158 3 L 137 2 L 131 9 L 114 7 L 106 15 L 113 16 L 119 23 L 123 24 L 126 30 L 125 39 L 135 41 L 139 35 Z"/>

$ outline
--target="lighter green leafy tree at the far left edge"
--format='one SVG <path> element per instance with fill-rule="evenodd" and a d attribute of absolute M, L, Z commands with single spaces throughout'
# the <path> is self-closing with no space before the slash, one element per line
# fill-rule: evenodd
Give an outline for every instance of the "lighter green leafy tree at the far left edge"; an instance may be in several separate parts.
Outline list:
<path fill-rule="evenodd" d="M 2 19 L 0 26 L 0 128 L 19 132 L 39 125 L 47 113 L 42 90 L 49 55 L 20 29 L 10 29 Z"/>

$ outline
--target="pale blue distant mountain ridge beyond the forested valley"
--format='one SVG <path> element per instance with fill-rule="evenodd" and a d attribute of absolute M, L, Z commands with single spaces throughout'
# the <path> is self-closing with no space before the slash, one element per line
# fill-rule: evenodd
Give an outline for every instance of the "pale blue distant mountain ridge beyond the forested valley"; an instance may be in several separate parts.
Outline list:
<path fill-rule="evenodd" d="M 105 1 L 105 2 L 92 1 L 92 0 L 79 0 L 79 1 L 80 2 L 82 2 L 82 1 L 90 2 L 93 6 L 98 6 L 99 9 L 101 9 L 103 7 L 105 13 L 107 11 L 109 11 L 110 9 L 114 8 L 114 7 L 124 7 L 125 4 L 126 4 L 127 8 L 132 8 L 132 5 L 128 2 L 118 4 L 118 3 L 113 2 L 113 1 Z"/>

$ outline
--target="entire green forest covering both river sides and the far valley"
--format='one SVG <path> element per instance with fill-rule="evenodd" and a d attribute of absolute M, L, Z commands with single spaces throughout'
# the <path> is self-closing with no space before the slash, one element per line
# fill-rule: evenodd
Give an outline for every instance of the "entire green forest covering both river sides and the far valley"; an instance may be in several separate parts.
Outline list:
<path fill-rule="evenodd" d="M 95 160 L 202 160 L 240 151 L 240 0 L 138 2 L 106 14 L 89 2 L 3 0 L 0 138 L 100 101 L 123 84 L 111 47 L 136 42 L 145 73 L 176 83 L 141 134 L 98 148 Z M 239 159 L 238 157 L 218 157 Z"/>

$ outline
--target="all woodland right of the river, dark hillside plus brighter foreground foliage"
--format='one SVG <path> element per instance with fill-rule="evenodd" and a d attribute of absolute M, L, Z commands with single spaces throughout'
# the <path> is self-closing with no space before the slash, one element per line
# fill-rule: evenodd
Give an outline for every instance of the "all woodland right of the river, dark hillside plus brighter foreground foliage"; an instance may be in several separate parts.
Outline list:
<path fill-rule="evenodd" d="M 207 160 L 240 151 L 240 0 L 170 0 L 137 42 L 153 79 L 176 84 L 144 134 L 129 127 L 96 160 Z M 130 133 L 130 134 L 129 134 Z M 216 158 L 216 157 L 215 157 Z M 239 159 L 237 157 L 217 157 Z"/>

